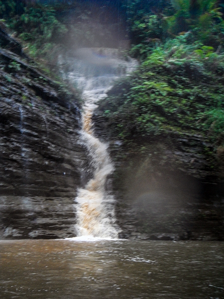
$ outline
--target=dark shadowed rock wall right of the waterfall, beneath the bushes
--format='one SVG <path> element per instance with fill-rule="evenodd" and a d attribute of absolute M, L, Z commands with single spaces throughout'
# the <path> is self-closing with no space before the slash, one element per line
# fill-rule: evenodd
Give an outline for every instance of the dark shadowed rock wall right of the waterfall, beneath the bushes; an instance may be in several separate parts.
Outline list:
<path fill-rule="evenodd" d="M 224 240 L 223 172 L 206 138 L 177 132 L 124 145 L 100 111 L 94 121 L 110 143 L 120 237 Z"/>

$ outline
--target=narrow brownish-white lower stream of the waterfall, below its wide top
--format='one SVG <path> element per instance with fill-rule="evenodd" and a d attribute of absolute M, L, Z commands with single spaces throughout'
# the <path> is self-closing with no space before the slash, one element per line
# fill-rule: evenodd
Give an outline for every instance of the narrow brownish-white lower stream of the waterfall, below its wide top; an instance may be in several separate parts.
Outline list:
<path fill-rule="evenodd" d="M 118 230 L 115 226 L 113 196 L 108 194 L 105 185 L 113 165 L 107 151 L 107 145 L 94 137 L 91 116 L 96 105 L 87 103 L 83 112 L 82 136 L 94 168 L 93 178 L 85 188 L 78 190 L 76 198 L 78 236 L 116 238 Z"/>

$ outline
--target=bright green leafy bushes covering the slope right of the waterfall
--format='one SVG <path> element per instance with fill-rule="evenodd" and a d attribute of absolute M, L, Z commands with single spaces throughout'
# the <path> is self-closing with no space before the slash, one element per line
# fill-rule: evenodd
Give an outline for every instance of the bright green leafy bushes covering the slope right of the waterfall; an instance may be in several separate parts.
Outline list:
<path fill-rule="evenodd" d="M 117 82 L 100 109 L 124 140 L 166 132 L 224 130 L 224 54 L 201 43 L 168 40 L 154 49 L 138 70 Z"/>

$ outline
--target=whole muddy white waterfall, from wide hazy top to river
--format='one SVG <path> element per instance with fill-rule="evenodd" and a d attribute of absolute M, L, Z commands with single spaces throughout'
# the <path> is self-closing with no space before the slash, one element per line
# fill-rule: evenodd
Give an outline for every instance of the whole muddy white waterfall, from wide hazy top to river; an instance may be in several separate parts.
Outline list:
<path fill-rule="evenodd" d="M 106 190 L 107 176 L 112 173 L 113 165 L 107 145 L 94 136 L 92 128 L 93 111 L 99 99 L 106 96 L 112 82 L 136 67 L 134 59 L 118 58 L 114 49 L 79 49 L 73 59 L 71 71 L 64 77 L 83 90 L 85 104 L 82 114 L 81 136 L 92 160 L 93 177 L 85 188 L 78 190 L 76 198 L 77 235 L 98 238 L 116 238 L 114 198 Z M 59 60 L 60 63 L 60 60 Z M 62 63 L 62 60 L 61 60 Z"/>

